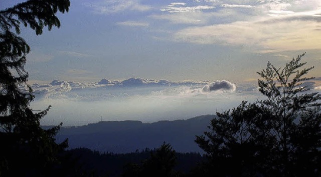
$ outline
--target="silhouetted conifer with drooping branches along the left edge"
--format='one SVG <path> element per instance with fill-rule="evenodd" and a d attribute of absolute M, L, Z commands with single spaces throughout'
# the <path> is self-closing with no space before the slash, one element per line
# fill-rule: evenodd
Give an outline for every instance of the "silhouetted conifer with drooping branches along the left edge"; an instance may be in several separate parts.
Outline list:
<path fill-rule="evenodd" d="M 44 175 L 59 149 L 67 146 L 67 141 L 55 142 L 59 126 L 40 127 L 50 106 L 39 112 L 29 107 L 34 95 L 24 65 L 30 46 L 19 34 L 21 24 L 37 35 L 45 26 L 59 27 L 56 13 L 69 6 L 69 0 L 28 0 L 0 11 L 0 176 Z"/>

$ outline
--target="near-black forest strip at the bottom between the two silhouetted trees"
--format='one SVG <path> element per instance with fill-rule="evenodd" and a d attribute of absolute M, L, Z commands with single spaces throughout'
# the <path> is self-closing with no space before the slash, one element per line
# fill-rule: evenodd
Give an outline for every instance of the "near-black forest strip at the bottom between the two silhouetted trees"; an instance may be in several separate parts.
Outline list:
<path fill-rule="evenodd" d="M 184 176 L 203 159 L 200 153 L 175 152 L 166 143 L 156 149 L 124 154 L 76 148 L 64 155 L 70 161 L 65 164 L 72 164 L 83 176 Z M 61 168 L 67 169 L 68 165 Z"/>

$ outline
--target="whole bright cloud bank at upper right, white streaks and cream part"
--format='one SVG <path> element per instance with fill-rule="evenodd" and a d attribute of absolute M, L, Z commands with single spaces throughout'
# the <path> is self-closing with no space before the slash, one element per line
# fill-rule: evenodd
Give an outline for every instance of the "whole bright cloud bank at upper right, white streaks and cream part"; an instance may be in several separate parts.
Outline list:
<path fill-rule="evenodd" d="M 176 42 L 241 46 L 255 52 L 321 49 L 319 0 L 194 0 L 172 2 L 151 15 L 176 24 Z M 196 4 L 196 5 L 195 5 Z"/>

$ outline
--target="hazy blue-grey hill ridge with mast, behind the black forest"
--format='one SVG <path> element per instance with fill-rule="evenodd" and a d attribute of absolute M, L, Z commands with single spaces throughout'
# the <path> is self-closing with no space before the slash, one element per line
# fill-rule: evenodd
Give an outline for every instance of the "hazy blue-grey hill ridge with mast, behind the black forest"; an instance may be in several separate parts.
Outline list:
<path fill-rule="evenodd" d="M 214 115 L 202 115 L 187 120 L 100 121 L 84 126 L 62 127 L 57 135 L 61 141 L 69 138 L 69 148 L 87 147 L 100 152 L 126 153 L 137 149 L 156 148 L 164 141 L 178 152 L 201 152 L 194 142 L 202 135 Z"/>

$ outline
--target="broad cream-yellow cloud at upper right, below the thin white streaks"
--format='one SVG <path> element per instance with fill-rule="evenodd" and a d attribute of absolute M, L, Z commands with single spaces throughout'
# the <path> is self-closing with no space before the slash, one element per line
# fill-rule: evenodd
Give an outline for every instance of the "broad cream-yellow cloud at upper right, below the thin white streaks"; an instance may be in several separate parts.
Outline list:
<path fill-rule="evenodd" d="M 177 31 L 173 40 L 201 44 L 245 45 L 260 52 L 321 49 L 321 26 L 314 20 L 315 17 L 311 16 L 314 13 L 286 14 L 286 17 L 264 17 L 188 27 Z M 301 19 L 302 17 L 305 19 Z"/>

